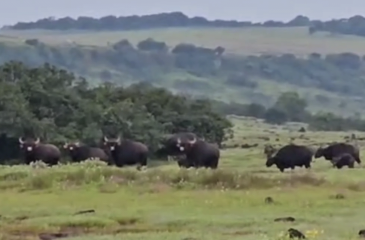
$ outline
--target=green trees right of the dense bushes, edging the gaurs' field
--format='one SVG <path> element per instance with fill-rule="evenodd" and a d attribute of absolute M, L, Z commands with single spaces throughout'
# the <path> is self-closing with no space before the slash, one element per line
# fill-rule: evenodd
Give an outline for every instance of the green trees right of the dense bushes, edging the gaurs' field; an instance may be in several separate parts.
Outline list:
<path fill-rule="evenodd" d="M 283 124 L 289 121 L 306 122 L 310 130 L 320 131 L 365 131 L 365 119 L 354 113 L 342 117 L 328 111 L 311 113 L 307 101 L 297 92 L 283 92 L 274 104 L 266 107 L 259 103 L 240 104 L 237 102 L 214 101 L 215 109 L 222 114 L 252 116 L 265 119 L 272 124 Z"/>

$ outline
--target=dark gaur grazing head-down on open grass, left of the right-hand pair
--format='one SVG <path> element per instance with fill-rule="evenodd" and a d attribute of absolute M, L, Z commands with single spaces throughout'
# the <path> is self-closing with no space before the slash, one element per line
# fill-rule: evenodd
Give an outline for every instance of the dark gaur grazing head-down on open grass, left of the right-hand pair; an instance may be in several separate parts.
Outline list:
<path fill-rule="evenodd" d="M 266 166 L 270 167 L 273 164 L 280 169 L 281 172 L 285 168 L 294 169 L 295 166 L 311 167 L 313 151 L 303 145 L 288 144 L 280 148 L 275 155 L 267 154 Z"/>

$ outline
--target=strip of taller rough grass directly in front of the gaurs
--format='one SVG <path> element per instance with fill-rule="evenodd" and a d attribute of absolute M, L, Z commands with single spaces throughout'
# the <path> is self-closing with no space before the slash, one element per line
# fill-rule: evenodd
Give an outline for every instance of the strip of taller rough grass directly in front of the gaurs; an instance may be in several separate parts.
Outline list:
<path fill-rule="evenodd" d="M 323 177 L 311 173 L 262 176 L 231 169 L 186 169 L 177 166 L 137 170 L 135 167 L 107 166 L 98 160 L 59 164 L 52 167 L 42 162 L 0 167 L 0 189 L 36 190 L 95 183 L 113 183 L 116 186 L 162 183 L 176 189 L 266 189 L 278 186 L 331 184 Z"/>

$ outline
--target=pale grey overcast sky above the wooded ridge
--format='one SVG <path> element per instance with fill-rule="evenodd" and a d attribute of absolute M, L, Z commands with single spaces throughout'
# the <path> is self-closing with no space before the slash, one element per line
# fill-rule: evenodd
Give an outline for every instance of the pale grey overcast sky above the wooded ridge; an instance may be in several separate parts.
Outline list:
<path fill-rule="evenodd" d="M 182 11 L 208 19 L 289 20 L 365 15 L 365 0 L 1 0 L 0 25 L 55 16 L 143 15 Z"/>

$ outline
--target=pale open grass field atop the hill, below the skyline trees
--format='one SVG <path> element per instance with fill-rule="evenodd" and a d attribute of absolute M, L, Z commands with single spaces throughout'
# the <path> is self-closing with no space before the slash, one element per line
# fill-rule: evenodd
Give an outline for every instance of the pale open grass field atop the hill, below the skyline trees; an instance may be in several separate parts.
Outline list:
<path fill-rule="evenodd" d="M 365 54 L 365 39 L 350 35 L 316 33 L 309 35 L 306 27 L 247 27 L 247 28 L 161 28 L 131 31 L 47 31 L 1 30 L 0 40 L 23 42 L 27 38 L 39 38 L 49 44 L 74 41 L 83 45 L 105 46 L 123 38 L 137 43 L 152 37 L 174 46 L 181 42 L 216 47 L 222 45 L 229 53 L 278 54 L 311 52 L 355 52 Z"/>

